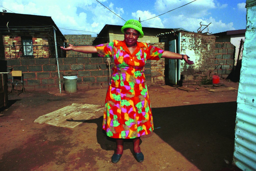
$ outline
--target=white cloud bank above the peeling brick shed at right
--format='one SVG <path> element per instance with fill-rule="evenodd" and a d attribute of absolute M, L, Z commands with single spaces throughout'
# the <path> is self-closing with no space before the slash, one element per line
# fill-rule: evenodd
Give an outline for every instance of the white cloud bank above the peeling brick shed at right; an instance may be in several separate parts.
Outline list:
<path fill-rule="evenodd" d="M 155 6 L 161 12 L 167 12 L 171 9 L 180 7 L 191 0 L 156 0 Z M 215 0 L 197 0 L 184 7 L 178 8 L 165 14 L 163 24 L 167 28 L 180 28 L 197 32 L 200 30 L 200 22 L 203 25 L 208 25 L 209 33 L 218 33 L 227 30 L 234 30 L 233 23 L 224 23 L 222 20 L 216 20 L 210 15 L 211 10 L 226 8 L 228 4 L 221 4 Z M 149 20 L 150 21 L 150 20 Z M 201 26 L 201 30 L 206 26 Z M 202 32 L 207 32 L 207 28 Z"/>

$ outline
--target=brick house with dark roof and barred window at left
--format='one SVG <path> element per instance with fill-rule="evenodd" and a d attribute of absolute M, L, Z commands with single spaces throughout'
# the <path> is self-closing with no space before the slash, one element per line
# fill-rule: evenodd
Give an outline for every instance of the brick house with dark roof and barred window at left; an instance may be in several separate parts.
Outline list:
<path fill-rule="evenodd" d="M 54 28 L 57 45 L 66 40 L 51 17 L 0 12 L 0 20 L 0 59 L 55 58 Z"/>

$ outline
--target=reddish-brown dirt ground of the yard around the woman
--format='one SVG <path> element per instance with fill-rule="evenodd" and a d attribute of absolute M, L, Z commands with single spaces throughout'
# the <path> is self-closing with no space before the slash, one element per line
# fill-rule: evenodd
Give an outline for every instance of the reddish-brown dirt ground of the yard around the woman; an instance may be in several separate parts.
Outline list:
<path fill-rule="evenodd" d="M 220 81 L 218 85 L 238 88 L 238 83 Z M 144 162 L 134 159 L 127 141 L 117 164 L 111 162 L 115 142 L 102 131 L 102 112 L 75 128 L 34 123 L 72 103 L 104 105 L 106 89 L 9 94 L 9 108 L 0 110 L 0 170 L 239 170 L 231 164 L 237 90 L 148 90 L 155 130 L 141 137 Z"/>

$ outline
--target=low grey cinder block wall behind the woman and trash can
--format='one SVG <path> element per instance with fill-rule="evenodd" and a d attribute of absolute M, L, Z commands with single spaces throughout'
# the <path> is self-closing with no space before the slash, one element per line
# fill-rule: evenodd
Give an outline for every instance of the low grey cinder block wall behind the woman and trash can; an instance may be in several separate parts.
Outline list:
<path fill-rule="evenodd" d="M 107 58 L 60 58 L 59 70 L 61 87 L 63 87 L 63 74 L 72 73 L 78 76 L 77 86 L 80 89 L 106 88 L 109 70 L 106 67 Z M 59 89 L 59 78 L 56 59 L 15 59 L 6 60 L 7 70 L 21 70 L 24 75 L 26 90 Z M 113 62 L 111 62 L 113 66 Z M 151 85 L 151 63 L 145 65 L 147 85 Z M 112 70 L 111 70 L 112 73 Z M 8 74 L 11 80 L 11 73 Z M 10 85 L 9 85 L 10 86 Z"/>

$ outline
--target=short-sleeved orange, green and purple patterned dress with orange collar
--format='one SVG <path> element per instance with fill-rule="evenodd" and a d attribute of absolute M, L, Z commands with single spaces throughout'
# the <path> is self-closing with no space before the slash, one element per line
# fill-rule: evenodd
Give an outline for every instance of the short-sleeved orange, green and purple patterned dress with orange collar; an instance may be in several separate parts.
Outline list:
<path fill-rule="evenodd" d="M 101 57 L 114 61 L 103 115 L 107 136 L 130 139 L 150 134 L 154 125 L 143 68 L 147 59 L 159 60 L 163 50 L 137 42 L 131 54 L 124 41 L 116 40 L 95 47 Z"/>

